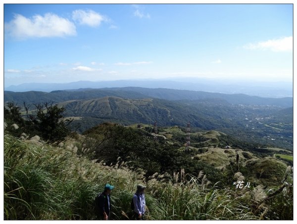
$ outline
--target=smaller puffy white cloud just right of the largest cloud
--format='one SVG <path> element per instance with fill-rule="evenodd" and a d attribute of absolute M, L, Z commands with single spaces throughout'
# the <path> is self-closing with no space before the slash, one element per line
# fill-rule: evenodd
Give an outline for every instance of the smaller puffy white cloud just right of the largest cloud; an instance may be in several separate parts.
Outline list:
<path fill-rule="evenodd" d="M 75 10 L 72 12 L 72 19 L 81 25 L 87 25 L 91 27 L 98 27 L 102 21 L 107 19 L 93 10 Z"/>

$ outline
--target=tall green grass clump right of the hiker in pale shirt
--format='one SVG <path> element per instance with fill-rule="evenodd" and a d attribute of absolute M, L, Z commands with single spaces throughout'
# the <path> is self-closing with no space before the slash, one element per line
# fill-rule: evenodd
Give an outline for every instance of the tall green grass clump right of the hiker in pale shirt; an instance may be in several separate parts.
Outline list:
<path fill-rule="evenodd" d="M 207 188 L 192 177 L 182 183 L 163 183 L 155 192 L 163 208 L 160 220 L 254 220 L 251 209 L 232 197 L 229 189 Z"/>

